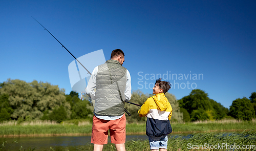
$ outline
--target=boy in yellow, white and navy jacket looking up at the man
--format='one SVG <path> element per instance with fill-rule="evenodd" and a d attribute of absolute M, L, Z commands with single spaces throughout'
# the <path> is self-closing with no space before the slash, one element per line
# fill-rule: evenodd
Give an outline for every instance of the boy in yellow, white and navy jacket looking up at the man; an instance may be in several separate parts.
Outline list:
<path fill-rule="evenodd" d="M 150 149 L 153 151 L 167 150 L 167 135 L 172 133 L 170 118 L 172 117 L 172 106 L 165 93 L 170 89 L 171 84 L 157 79 L 153 88 L 153 97 L 148 98 L 138 111 L 140 117 L 147 117 L 146 135 L 150 141 Z"/>

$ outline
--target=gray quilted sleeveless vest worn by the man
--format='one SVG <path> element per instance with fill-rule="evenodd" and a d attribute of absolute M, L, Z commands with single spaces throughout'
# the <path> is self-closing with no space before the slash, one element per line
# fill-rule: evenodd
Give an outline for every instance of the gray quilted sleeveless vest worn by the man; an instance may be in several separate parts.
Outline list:
<path fill-rule="evenodd" d="M 117 60 L 98 66 L 94 113 L 101 116 L 124 114 L 126 69 Z"/>

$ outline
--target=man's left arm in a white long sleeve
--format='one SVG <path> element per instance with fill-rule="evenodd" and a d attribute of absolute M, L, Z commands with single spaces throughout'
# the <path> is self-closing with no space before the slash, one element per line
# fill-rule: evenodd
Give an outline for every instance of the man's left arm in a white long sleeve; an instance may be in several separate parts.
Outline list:
<path fill-rule="evenodd" d="M 96 87 L 96 76 L 97 76 L 97 72 L 98 72 L 98 67 L 95 67 L 92 75 L 88 81 L 88 85 L 86 88 L 86 94 L 91 97 L 92 100 L 95 100 L 95 87 Z"/>

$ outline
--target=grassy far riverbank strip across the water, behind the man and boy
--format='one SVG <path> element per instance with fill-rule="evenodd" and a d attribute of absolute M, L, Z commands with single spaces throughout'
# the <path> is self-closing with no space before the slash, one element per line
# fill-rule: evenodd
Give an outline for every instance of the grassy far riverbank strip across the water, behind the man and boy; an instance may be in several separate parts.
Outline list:
<path fill-rule="evenodd" d="M 207 121 L 172 123 L 173 134 L 255 131 L 256 121 Z M 145 135 L 145 123 L 126 124 L 126 135 Z M 0 124 L 0 137 L 91 136 L 92 124 L 27 122 Z"/>

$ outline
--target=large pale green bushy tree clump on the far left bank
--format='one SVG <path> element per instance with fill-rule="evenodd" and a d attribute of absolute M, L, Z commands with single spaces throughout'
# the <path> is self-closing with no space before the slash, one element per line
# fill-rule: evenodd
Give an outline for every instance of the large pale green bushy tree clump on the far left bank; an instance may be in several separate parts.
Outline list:
<path fill-rule="evenodd" d="M 53 111 L 55 107 L 64 106 L 70 116 L 70 103 L 65 100 L 65 90 L 58 85 L 51 85 L 36 80 L 28 83 L 22 80 L 8 79 L 3 82 L 0 93 L 7 94 L 12 109 L 13 119 L 40 119 L 46 110 Z M 27 117 L 27 118 L 26 118 Z"/>

